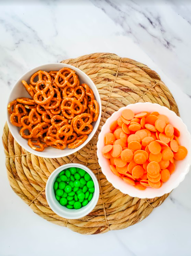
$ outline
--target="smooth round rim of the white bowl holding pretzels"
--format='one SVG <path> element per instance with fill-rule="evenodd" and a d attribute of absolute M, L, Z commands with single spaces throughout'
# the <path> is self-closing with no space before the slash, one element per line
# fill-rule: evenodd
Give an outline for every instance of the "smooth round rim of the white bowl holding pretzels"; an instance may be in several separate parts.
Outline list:
<path fill-rule="evenodd" d="M 87 143 L 89 143 L 89 141 L 91 141 L 91 139 L 93 138 L 94 134 L 96 133 L 96 131 L 98 130 L 98 127 L 100 125 L 100 120 L 101 120 L 101 115 L 102 115 L 102 102 L 101 102 L 101 98 L 100 98 L 100 94 L 98 92 L 98 89 L 96 87 L 96 85 L 93 83 L 93 81 L 91 80 L 91 78 L 85 73 L 83 72 L 82 70 L 80 70 L 79 68 L 76 68 L 74 66 L 71 66 L 69 64 L 65 64 L 65 63 L 58 63 L 58 62 L 52 62 L 52 63 L 46 63 L 46 64 L 42 64 L 42 65 L 39 65 L 39 66 L 36 66 L 34 68 L 31 68 L 30 70 L 28 70 L 27 72 L 25 72 L 21 77 L 19 77 L 19 79 L 15 82 L 15 84 L 13 85 L 13 88 L 11 89 L 11 92 L 8 96 L 8 100 L 7 100 L 7 105 L 8 103 L 11 101 L 10 98 L 11 98 L 11 95 L 13 94 L 13 91 L 15 90 L 15 87 L 18 86 L 17 84 L 19 82 L 21 82 L 21 80 L 23 80 L 22 78 L 27 75 L 28 73 L 30 72 L 36 72 L 37 70 L 43 70 L 43 67 L 45 66 L 45 68 L 47 68 L 46 66 L 50 66 L 50 65 L 60 65 L 60 68 L 62 67 L 68 67 L 68 68 L 71 68 L 75 71 L 78 72 L 78 75 L 80 77 L 80 75 L 82 76 L 85 76 L 87 78 L 87 80 L 89 81 L 88 83 L 92 85 L 92 87 L 94 87 L 95 91 L 96 91 L 96 100 L 99 104 L 99 110 L 100 110 L 100 113 L 99 113 L 99 116 L 98 116 L 98 120 L 95 122 L 95 126 L 93 127 L 93 130 L 92 132 L 88 135 L 88 138 L 87 140 L 82 144 L 80 145 L 79 147 L 76 147 L 75 149 L 72 149 L 71 150 L 71 153 L 70 154 L 66 154 L 64 153 L 64 149 L 62 150 L 63 154 L 59 154 L 59 156 L 57 156 L 57 153 L 58 151 L 55 151 L 54 154 L 52 154 L 51 156 L 47 155 L 47 151 L 42 151 L 42 152 L 39 152 L 39 151 L 35 151 L 34 149 L 30 148 L 28 146 L 28 148 L 25 147 L 25 145 L 23 145 L 22 143 L 22 140 L 20 141 L 17 141 L 16 139 L 16 136 L 15 136 L 15 130 L 13 128 L 13 125 L 11 124 L 10 122 L 10 114 L 8 113 L 8 111 L 6 110 L 6 119 L 7 119 L 7 124 L 8 124 L 8 128 L 11 132 L 11 134 L 13 135 L 13 138 L 17 141 L 17 143 L 19 143 L 19 145 L 21 145 L 21 147 L 23 149 L 25 149 L 26 151 L 30 152 L 31 154 L 34 154 L 36 156 L 40 156 L 40 157 L 44 157 L 44 158 L 60 158 L 60 157 L 65 157 L 65 156 L 70 156 L 71 154 L 74 154 L 75 152 L 79 151 L 80 149 L 82 149 L 83 147 L 85 147 L 85 145 L 87 145 Z M 29 77 L 30 79 L 30 77 Z M 88 84 L 88 85 L 89 85 Z M 90 86 L 91 87 L 91 86 Z M 30 96 L 30 95 L 29 95 Z M 21 137 L 22 138 L 22 137 Z M 22 138 L 23 139 L 23 138 Z M 59 149 L 57 149 L 59 150 Z M 66 152 L 66 151 L 65 151 Z"/>

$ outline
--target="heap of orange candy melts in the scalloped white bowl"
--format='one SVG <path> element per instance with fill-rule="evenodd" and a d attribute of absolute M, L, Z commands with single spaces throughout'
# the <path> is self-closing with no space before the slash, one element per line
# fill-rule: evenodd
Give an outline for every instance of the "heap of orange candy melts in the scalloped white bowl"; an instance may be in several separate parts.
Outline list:
<path fill-rule="evenodd" d="M 158 112 L 124 109 L 105 134 L 102 154 L 111 171 L 139 190 L 160 188 L 176 171 L 176 160 L 187 156 L 179 145 L 180 132 Z"/>

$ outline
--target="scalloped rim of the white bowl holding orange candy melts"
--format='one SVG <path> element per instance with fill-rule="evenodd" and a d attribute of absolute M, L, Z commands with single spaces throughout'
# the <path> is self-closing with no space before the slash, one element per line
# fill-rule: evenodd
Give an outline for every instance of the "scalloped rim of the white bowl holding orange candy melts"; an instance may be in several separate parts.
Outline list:
<path fill-rule="evenodd" d="M 123 109 L 131 109 L 131 107 L 134 106 L 134 105 L 142 105 L 142 104 L 144 104 L 144 105 L 145 105 L 145 104 L 146 104 L 146 105 L 157 105 L 157 107 L 159 107 L 159 108 L 161 107 L 161 108 L 166 109 L 167 111 L 170 111 L 170 112 L 172 113 L 172 115 L 174 115 L 174 117 L 178 118 L 179 121 L 180 121 L 180 122 L 183 124 L 183 126 L 185 127 L 185 130 L 187 131 L 188 140 L 189 140 L 189 147 L 191 148 L 191 134 L 189 133 L 189 131 L 188 131 L 188 129 L 187 129 L 187 126 L 185 125 L 185 123 L 183 122 L 183 120 L 182 120 L 178 115 L 176 115 L 176 113 L 175 113 L 174 111 L 168 109 L 167 107 L 161 106 L 161 105 L 156 104 L 156 103 L 151 103 L 151 102 L 137 102 L 137 103 L 135 103 L 135 104 L 129 104 L 129 105 L 127 105 L 126 107 L 122 107 L 122 108 L 120 108 L 118 111 L 122 112 Z M 101 153 L 101 149 L 100 149 L 100 143 L 101 143 L 102 132 L 103 132 L 104 128 L 105 128 L 106 126 L 108 126 L 108 124 L 110 123 L 111 117 L 115 117 L 115 115 L 117 115 L 118 111 L 112 113 L 112 115 L 106 120 L 105 124 L 102 126 L 102 129 L 101 129 L 101 131 L 100 131 L 100 133 L 99 133 L 99 135 L 98 135 L 98 143 L 97 143 L 97 148 L 98 148 L 98 150 L 97 150 L 97 156 L 98 156 L 98 163 L 99 163 L 99 165 L 100 165 L 101 168 L 103 167 L 102 161 L 100 160 L 101 157 L 102 157 L 102 153 Z M 191 153 L 190 153 L 190 155 L 191 155 Z M 188 157 L 188 156 L 189 156 L 189 154 L 187 155 L 187 157 Z M 164 194 L 170 193 L 174 188 L 177 188 L 178 185 L 185 179 L 186 174 L 189 172 L 189 167 L 190 167 L 190 166 L 191 166 L 191 157 L 188 158 L 187 166 L 186 166 L 186 168 L 185 168 L 185 170 L 184 170 L 184 175 L 182 176 L 182 178 L 181 178 L 181 179 L 176 179 L 176 182 L 173 183 L 174 185 L 173 185 L 173 186 L 169 186 L 169 187 L 166 189 L 165 192 L 160 192 L 159 190 L 157 190 L 158 193 L 155 193 L 155 194 L 157 194 L 157 195 L 155 195 L 154 197 L 163 196 Z M 106 176 L 106 179 L 112 184 L 112 186 L 114 186 L 115 188 L 117 188 L 118 190 L 120 190 L 123 194 L 127 194 L 127 191 L 126 191 L 127 189 L 124 190 L 123 188 L 121 188 L 120 186 L 117 185 L 117 183 L 115 182 L 114 179 L 108 177 L 107 172 L 105 171 L 105 168 L 102 168 L 102 173 Z M 127 184 L 127 185 L 128 185 L 128 184 Z M 130 185 L 129 185 L 129 186 L 130 186 Z M 151 188 L 151 189 L 153 189 L 153 188 Z M 144 191 L 146 191 L 146 190 L 144 190 Z M 150 191 L 147 192 L 147 193 L 145 193 L 146 196 L 141 195 L 141 190 L 137 190 L 137 193 L 130 191 L 128 194 L 129 194 L 129 196 L 138 197 L 138 198 L 154 198 L 154 197 L 149 196 Z"/>

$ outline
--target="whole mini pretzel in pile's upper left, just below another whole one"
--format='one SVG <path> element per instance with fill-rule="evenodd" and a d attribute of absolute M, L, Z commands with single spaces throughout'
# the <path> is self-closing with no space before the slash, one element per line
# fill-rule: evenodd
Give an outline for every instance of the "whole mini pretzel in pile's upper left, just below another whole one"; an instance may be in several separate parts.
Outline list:
<path fill-rule="evenodd" d="M 43 89 L 40 89 L 40 86 L 42 84 L 45 85 L 45 87 Z M 52 87 L 50 82 L 39 81 L 36 84 L 35 89 L 37 92 L 36 92 L 36 94 L 34 94 L 34 101 L 39 105 L 45 105 L 45 104 L 49 103 L 54 96 L 54 88 Z M 49 92 L 49 95 L 47 96 L 48 92 Z M 43 100 L 40 100 L 39 96 L 42 96 Z"/>

